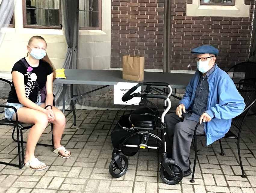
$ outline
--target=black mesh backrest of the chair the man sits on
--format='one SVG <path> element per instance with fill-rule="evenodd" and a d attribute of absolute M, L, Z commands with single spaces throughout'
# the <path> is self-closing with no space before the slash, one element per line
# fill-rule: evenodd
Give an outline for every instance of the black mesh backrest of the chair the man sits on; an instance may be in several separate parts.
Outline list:
<path fill-rule="evenodd" d="M 240 115 L 233 118 L 232 125 L 235 126 L 237 129 L 241 130 L 246 115 L 256 101 L 256 88 L 253 84 L 247 82 L 239 82 L 235 83 L 235 85 L 239 93 L 245 100 L 245 109 Z"/>

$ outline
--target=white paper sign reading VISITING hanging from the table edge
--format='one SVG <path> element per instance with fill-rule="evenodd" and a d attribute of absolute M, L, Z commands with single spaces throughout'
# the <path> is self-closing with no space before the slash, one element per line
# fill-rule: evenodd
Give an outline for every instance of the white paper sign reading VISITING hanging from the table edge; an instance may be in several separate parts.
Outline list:
<path fill-rule="evenodd" d="M 128 100 L 127 102 L 122 101 L 122 97 L 124 94 L 129 91 L 132 87 L 136 86 L 138 83 L 131 83 L 131 82 L 119 82 L 117 85 L 114 85 L 114 104 L 117 105 L 132 105 L 140 102 L 140 97 L 133 97 L 131 100 Z M 141 87 L 137 88 L 136 91 L 133 93 L 140 93 Z"/>

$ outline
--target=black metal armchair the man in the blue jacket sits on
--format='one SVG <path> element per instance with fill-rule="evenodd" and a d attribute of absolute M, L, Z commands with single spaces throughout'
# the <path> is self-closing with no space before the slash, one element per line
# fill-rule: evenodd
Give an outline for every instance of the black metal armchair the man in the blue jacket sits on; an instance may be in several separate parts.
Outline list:
<path fill-rule="evenodd" d="M 241 96 L 244 98 L 245 100 L 245 109 L 244 111 L 238 115 L 237 117 L 232 119 L 232 123 L 231 126 L 234 126 L 234 128 L 236 129 L 237 134 L 233 133 L 232 131 L 228 131 L 223 138 L 233 138 L 237 140 L 237 150 L 238 150 L 238 157 L 239 157 L 239 162 L 240 162 L 240 167 L 242 170 L 242 178 L 245 178 L 245 172 L 243 169 L 243 165 L 242 165 L 242 159 L 241 159 L 241 155 L 240 155 L 240 135 L 241 135 L 241 131 L 242 131 L 242 126 L 243 123 L 245 121 L 245 118 L 248 114 L 248 112 L 250 111 L 252 105 L 254 104 L 254 102 L 256 101 L 256 88 L 254 85 L 250 84 L 250 83 L 245 83 L 245 82 L 239 82 L 239 83 L 235 83 L 236 84 L 236 88 L 238 89 L 239 93 L 241 94 Z M 196 127 L 195 127 L 195 132 L 194 132 L 194 150 L 195 150 L 195 160 L 194 160 L 194 167 L 193 167 L 193 174 L 192 174 L 192 179 L 190 180 L 191 183 L 194 183 L 194 175 L 195 175 L 195 169 L 196 169 L 196 159 L 197 159 L 197 137 L 200 136 L 204 136 L 205 135 L 196 135 L 196 130 L 197 127 L 199 126 L 199 123 L 197 123 Z M 225 154 L 223 153 L 223 149 L 222 149 L 222 145 L 221 145 L 221 139 L 219 139 L 219 143 L 220 143 L 220 148 L 221 148 L 221 156 L 224 156 Z"/>

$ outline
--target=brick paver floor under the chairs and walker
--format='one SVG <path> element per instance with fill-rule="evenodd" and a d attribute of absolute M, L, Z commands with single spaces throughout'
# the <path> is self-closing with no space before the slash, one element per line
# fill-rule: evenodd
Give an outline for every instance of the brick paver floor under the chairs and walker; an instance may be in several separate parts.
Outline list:
<path fill-rule="evenodd" d="M 0 103 L 5 101 L 2 99 Z M 222 140 L 225 156 L 220 156 L 218 142 L 206 147 L 205 140 L 200 138 L 195 183 L 190 183 L 189 176 L 179 184 L 167 185 L 159 177 L 160 153 L 154 150 L 139 150 L 135 156 L 128 157 L 129 167 L 124 176 L 111 177 L 108 169 L 113 150 L 110 132 L 116 125 L 116 112 L 76 110 L 77 126 L 69 115 L 62 138 L 62 144 L 72 156 L 63 159 L 54 154 L 51 147 L 37 146 L 35 155 L 49 165 L 46 170 L 32 171 L 25 167 L 19 170 L 0 164 L 0 192 L 256 192 L 255 116 L 246 119 L 240 144 L 246 178 L 240 177 L 235 141 Z M 125 113 L 121 111 L 119 115 Z M 12 128 L 0 126 L 0 133 L 1 160 L 17 162 L 17 143 L 11 139 Z M 27 132 L 25 139 L 26 135 Z M 50 143 L 50 140 L 48 126 L 40 141 Z M 192 162 L 193 157 L 192 147 Z"/>

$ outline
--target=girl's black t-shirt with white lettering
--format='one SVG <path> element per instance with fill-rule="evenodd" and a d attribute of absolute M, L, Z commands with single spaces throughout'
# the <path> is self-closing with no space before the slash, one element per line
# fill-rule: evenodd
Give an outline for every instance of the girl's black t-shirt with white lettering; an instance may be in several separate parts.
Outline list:
<path fill-rule="evenodd" d="M 25 64 L 23 64 L 23 62 L 19 60 L 14 64 L 14 67 L 12 68 L 11 72 L 13 71 L 18 71 L 24 75 L 25 95 L 32 102 L 37 102 L 38 89 L 35 86 L 35 80 L 37 81 L 39 88 L 41 89 L 45 86 L 46 77 L 53 72 L 51 66 L 42 60 L 39 61 L 38 67 L 31 67 L 29 65 L 29 68 L 26 68 Z M 17 97 L 14 84 L 12 90 L 9 93 L 7 102 L 20 103 Z"/>

